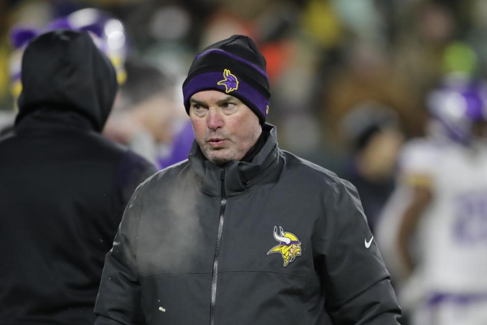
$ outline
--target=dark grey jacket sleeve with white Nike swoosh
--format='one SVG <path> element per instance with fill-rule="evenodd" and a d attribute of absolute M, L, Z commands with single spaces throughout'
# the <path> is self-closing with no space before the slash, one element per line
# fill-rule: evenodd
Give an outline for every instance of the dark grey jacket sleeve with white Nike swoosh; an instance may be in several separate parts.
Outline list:
<path fill-rule="evenodd" d="M 326 308 L 341 325 L 399 324 L 401 309 L 358 193 L 344 180 L 332 188 L 318 245 Z"/>

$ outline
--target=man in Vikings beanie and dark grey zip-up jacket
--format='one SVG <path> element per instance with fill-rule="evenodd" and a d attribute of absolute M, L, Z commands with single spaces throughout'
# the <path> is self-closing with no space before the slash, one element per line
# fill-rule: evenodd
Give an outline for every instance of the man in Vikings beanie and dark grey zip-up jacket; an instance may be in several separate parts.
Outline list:
<path fill-rule="evenodd" d="M 189 160 L 124 213 L 96 324 L 397 324 L 400 309 L 355 189 L 282 151 L 266 61 L 235 35 L 183 84 Z"/>

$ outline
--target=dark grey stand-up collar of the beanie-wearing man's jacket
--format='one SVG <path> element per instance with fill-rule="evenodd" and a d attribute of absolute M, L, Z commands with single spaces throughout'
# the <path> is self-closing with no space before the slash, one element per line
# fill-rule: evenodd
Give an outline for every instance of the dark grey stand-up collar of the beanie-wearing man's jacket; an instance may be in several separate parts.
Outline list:
<path fill-rule="evenodd" d="M 251 186 L 262 182 L 279 170 L 279 148 L 277 146 L 276 127 L 265 123 L 262 132 L 269 134 L 264 147 L 247 163 L 232 160 L 218 166 L 211 163 L 196 142 L 193 142 L 188 159 L 191 169 L 196 174 L 198 184 L 202 190 L 212 196 L 220 195 L 221 176 L 224 170 L 225 193 L 227 196 L 236 195 Z"/>

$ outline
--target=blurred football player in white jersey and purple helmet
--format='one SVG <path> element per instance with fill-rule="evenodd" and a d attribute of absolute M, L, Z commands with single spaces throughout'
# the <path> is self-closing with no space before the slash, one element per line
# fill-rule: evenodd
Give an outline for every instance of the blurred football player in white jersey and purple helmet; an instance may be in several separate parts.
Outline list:
<path fill-rule="evenodd" d="M 428 137 L 402 151 L 377 243 L 412 325 L 487 324 L 487 86 L 428 96 Z"/>

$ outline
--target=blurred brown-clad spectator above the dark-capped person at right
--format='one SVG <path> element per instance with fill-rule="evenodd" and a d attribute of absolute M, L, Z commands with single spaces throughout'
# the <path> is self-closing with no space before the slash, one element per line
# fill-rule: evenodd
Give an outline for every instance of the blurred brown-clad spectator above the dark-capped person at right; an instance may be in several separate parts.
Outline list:
<path fill-rule="evenodd" d="M 341 135 L 343 118 L 357 105 L 373 101 L 390 107 L 401 120 L 404 132 L 417 135 L 423 127 L 417 93 L 411 91 L 404 74 L 396 74 L 390 54 L 384 47 L 355 44 L 343 53 L 343 66 L 328 72 L 334 78 L 323 89 L 320 115 L 327 138 L 335 141 L 335 150 L 346 145 Z M 330 140 L 326 140 L 330 141 Z"/>

